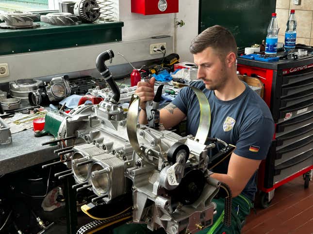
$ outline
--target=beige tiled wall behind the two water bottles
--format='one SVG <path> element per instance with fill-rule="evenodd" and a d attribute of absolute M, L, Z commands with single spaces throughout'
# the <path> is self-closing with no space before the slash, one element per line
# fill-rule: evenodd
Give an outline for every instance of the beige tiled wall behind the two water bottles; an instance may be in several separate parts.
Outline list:
<path fill-rule="evenodd" d="M 276 13 L 280 27 L 278 41 L 284 42 L 286 23 L 291 9 L 296 10 L 296 43 L 313 46 L 313 0 L 301 0 L 300 5 L 293 4 L 293 0 L 276 0 Z"/>

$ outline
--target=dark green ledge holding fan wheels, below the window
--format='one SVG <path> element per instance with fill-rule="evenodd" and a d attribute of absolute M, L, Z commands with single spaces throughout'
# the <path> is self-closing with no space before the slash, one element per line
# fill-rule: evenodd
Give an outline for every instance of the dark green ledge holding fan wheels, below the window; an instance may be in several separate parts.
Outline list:
<path fill-rule="evenodd" d="M 44 22 L 35 29 L 0 29 L 0 55 L 61 49 L 122 40 L 121 21 L 94 22 L 71 26 Z"/>

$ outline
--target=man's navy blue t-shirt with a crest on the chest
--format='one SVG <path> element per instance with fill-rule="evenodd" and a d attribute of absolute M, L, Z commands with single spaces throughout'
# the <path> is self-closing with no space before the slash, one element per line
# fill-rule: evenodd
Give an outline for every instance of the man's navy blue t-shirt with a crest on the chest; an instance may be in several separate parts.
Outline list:
<path fill-rule="evenodd" d="M 199 88 L 208 98 L 211 107 L 210 137 L 216 137 L 236 146 L 234 153 L 254 160 L 264 160 L 274 134 L 274 121 L 263 99 L 246 83 L 242 94 L 230 101 L 216 98 L 214 91 L 205 88 L 203 82 L 193 82 L 191 86 Z M 194 91 L 185 87 L 172 102 L 187 116 L 187 134 L 196 135 L 199 125 L 200 109 Z M 214 155 L 222 145 L 208 152 Z M 227 174 L 230 157 L 212 170 Z M 244 168 L 243 168 L 244 170 Z M 250 178 L 242 191 L 254 200 L 257 191 L 256 173 Z"/>

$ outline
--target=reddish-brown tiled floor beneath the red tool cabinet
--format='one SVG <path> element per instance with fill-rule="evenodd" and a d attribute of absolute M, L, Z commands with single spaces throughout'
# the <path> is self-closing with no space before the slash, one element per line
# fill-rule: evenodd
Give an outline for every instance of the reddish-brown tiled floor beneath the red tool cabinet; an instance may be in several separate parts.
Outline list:
<path fill-rule="evenodd" d="M 304 189 L 302 176 L 280 186 L 266 209 L 251 210 L 243 234 L 313 234 L 313 181 Z"/>

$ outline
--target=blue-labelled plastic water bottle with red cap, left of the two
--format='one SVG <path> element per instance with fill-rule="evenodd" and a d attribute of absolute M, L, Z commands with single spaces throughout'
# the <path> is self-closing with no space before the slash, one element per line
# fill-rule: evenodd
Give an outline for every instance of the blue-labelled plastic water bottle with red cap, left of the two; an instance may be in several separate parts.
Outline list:
<path fill-rule="evenodd" d="M 267 28 L 265 44 L 265 54 L 270 57 L 276 57 L 279 30 L 280 28 L 278 28 L 276 13 L 272 13 L 272 19 Z"/>

